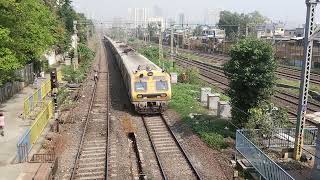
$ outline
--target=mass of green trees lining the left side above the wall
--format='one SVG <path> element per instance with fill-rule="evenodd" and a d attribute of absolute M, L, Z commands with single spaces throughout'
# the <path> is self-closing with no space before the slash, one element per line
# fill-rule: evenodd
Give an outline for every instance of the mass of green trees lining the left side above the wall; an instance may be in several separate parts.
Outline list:
<path fill-rule="evenodd" d="M 28 63 L 40 67 L 49 49 L 69 51 L 73 21 L 87 22 L 70 0 L 0 0 L 0 86 L 16 80 L 15 71 Z M 87 24 L 79 26 L 85 41 Z"/>

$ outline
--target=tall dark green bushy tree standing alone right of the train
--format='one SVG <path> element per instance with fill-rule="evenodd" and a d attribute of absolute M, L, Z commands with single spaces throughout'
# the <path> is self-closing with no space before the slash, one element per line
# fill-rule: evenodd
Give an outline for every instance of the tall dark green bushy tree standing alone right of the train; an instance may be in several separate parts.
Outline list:
<path fill-rule="evenodd" d="M 272 46 L 258 39 L 243 39 L 230 51 L 231 60 L 224 65 L 228 77 L 232 119 L 243 127 L 249 110 L 271 99 L 277 68 Z"/>

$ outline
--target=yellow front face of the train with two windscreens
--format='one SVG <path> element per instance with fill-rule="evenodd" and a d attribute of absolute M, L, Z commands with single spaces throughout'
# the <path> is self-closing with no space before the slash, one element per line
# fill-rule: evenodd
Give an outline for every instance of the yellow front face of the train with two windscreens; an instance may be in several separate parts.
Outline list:
<path fill-rule="evenodd" d="M 137 71 L 132 81 L 132 103 L 140 114 L 162 113 L 171 99 L 168 73 L 158 70 Z"/>

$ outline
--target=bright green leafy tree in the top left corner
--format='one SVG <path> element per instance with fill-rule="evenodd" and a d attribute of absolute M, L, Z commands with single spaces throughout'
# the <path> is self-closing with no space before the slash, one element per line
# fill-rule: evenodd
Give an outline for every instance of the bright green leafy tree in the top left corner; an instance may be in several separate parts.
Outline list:
<path fill-rule="evenodd" d="M 22 64 L 39 59 L 58 37 L 54 14 L 39 0 L 0 1 L 0 24 L 10 30 L 7 47 Z"/>

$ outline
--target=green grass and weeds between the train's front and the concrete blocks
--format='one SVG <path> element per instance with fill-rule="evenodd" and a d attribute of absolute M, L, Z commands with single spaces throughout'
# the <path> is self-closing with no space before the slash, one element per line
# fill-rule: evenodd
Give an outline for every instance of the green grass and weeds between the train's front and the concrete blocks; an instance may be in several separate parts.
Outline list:
<path fill-rule="evenodd" d="M 199 102 L 200 84 L 178 83 L 172 86 L 172 100 L 169 108 L 178 112 L 183 122 L 185 122 L 199 137 L 215 149 L 225 149 L 229 144 L 225 138 L 235 138 L 234 130 L 230 124 L 215 116 L 200 115 L 192 119 L 189 115 L 207 114 L 208 110 L 201 106 Z M 225 129 L 225 127 L 228 127 Z"/>

